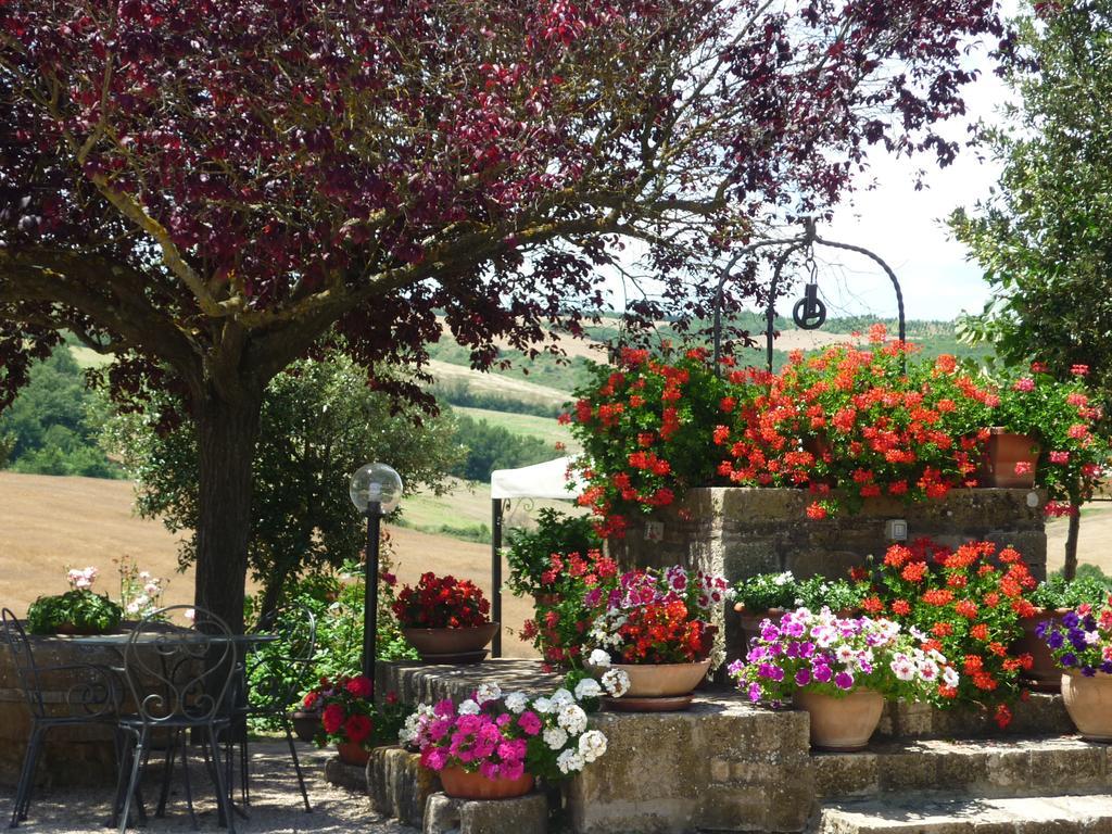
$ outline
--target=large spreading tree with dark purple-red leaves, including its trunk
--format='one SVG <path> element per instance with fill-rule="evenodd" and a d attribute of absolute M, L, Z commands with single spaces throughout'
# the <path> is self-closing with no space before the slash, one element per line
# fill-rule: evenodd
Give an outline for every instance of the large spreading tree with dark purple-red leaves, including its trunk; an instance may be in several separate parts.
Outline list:
<path fill-rule="evenodd" d="M 476 367 L 550 348 L 628 241 L 664 288 L 633 315 L 699 315 L 868 146 L 946 161 L 1000 33 L 990 0 L 0 0 L 0 407 L 63 332 L 119 395 L 179 388 L 197 603 L 238 626 L 290 361 L 419 368 L 438 315 Z"/>

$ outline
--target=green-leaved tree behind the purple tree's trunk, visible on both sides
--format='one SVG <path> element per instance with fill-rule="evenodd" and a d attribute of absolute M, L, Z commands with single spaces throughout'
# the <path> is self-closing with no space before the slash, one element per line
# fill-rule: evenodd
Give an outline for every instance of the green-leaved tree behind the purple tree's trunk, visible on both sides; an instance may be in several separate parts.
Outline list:
<path fill-rule="evenodd" d="M 189 532 L 179 553 L 185 566 L 197 558 L 198 455 L 193 424 L 165 430 L 163 418 L 178 407 L 156 394 L 145 408 L 110 420 L 103 440 L 137 481 L 139 513 L 160 517 L 172 533 Z M 407 490 L 439 493 L 463 456 L 450 417 L 398 410 L 368 386 L 365 368 L 339 353 L 276 376 L 264 395 L 252 463 L 248 566 L 264 588 L 261 612 L 281 602 L 290 579 L 360 557 L 366 533 L 347 490 L 355 469 L 383 460 Z"/>

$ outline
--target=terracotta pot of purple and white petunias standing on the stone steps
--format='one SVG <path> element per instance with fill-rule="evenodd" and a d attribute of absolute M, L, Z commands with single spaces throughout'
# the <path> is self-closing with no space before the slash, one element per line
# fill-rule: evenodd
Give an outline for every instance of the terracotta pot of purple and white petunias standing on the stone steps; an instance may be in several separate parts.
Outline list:
<path fill-rule="evenodd" d="M 791 701 L 806 709 L 812 745 L 834 751 L 868 744 L 886 697 L 953 697 L 960 677 L 942 653 L 920 647 L 898 623 L 840 618 L 830 608 L 787 612 L 778 625 L 766 619 L 729 674 L 754 702 Z"/>

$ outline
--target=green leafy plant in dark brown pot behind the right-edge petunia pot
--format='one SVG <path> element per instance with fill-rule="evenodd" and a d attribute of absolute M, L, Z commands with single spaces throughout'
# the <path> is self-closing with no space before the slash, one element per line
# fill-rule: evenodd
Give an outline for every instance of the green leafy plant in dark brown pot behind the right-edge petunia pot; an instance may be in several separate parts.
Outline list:
<path fill-rule="evenodd" d="M 1108 597 L 1109 584 L 1093 576 L 1079 576 L 1066 579 L 1055 575 L 1039 584 L 1029 600 L 1034 612 L 1020 619 L 1023 636 L 1013 644 L 1015 654 L 1031 655 L 1031 668 L 1024 673 L 1033 689 L 1039 692 L 1059 692 L 1062 686 L 1062 669 L 1051 654 L 1046 642 L 1042 639 L 1040 626 L 1045 623 L 1062 624 L 1066 612 L 1080 605 L 1089 604 L 1099 607 Z"/>

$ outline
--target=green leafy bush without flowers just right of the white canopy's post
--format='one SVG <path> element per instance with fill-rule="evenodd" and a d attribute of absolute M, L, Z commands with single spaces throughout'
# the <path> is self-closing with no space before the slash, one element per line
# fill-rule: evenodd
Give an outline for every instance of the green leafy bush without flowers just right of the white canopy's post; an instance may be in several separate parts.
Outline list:
<path fill-rule="evenodd" d="M 550 556 L 566 555 L 602 547 L 590 516 L 569 516 L 552 507 L 537 513 L 535 529 L 518 528 L 509 534 L 509 579 L 506 586 L 517 596 L 550 593 L 550 583 L 543 579 L 550 568 Z"/>

